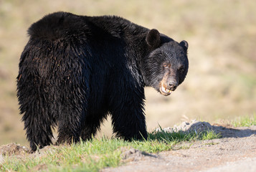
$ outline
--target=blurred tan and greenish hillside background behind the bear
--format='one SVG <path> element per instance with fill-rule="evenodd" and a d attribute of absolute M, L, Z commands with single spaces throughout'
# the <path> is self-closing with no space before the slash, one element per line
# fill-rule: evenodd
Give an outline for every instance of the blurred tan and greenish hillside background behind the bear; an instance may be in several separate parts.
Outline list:
<path fill-rule="evenodd" d="M 189 73 L 169 97 L 146 88 L 151 131 L 181 119 L 217 123 L 256 112 L 256 3 L 254 0 L 0 0 L 0 145 L 27 144 L 16 99 L 19 57 L 27 29 L 45 14 L 123 16 L 189 42 Z M 111 135 L 110 120 L 98 135 Z"/>

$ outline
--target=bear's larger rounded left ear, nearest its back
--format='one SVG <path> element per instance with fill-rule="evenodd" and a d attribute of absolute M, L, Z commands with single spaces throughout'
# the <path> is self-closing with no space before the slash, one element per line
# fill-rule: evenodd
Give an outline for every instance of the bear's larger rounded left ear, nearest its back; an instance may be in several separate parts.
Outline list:
<path fill-rule="evenodd" d="M 158 30 L 151 29 L 146 36 L 146 42 L 152 48 L 159 47 L 161 44 L 161 39 Z"/>

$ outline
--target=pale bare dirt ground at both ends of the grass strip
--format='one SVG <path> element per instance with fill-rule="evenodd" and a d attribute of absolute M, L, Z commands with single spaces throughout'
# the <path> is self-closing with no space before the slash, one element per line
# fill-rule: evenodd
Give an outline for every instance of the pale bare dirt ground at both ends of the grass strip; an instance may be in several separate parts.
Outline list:
<path fill-rule="evenodd" d="M 212 128 L 222 138 L 199 140 L 176 145 L 173 151 L 150 154 L 136 149 L 124 150 L 124 166 L 105 168 L 101 172 L 116 171 L 256 171 L 256 126 L 233 128 L 229 125 L 210 125 L 193 122 L 179 125 L 177 130 Z M 175 128 L 165 128 L 170 130 Z M 0 146 L 0 163 L 6 153 L 22 155 L 28 148 L 14 143 Z"/>

